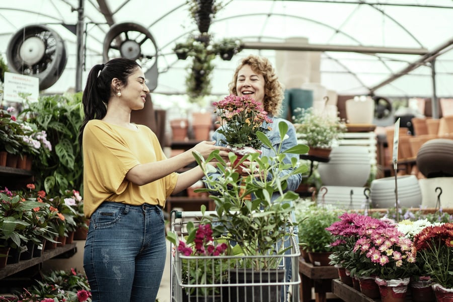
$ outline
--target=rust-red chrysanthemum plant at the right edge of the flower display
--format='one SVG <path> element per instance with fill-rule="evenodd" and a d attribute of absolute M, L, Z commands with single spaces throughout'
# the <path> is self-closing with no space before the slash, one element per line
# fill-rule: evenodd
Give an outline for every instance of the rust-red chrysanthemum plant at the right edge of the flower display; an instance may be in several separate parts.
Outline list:
<path fill-rule="evenodd" d="M 453 297 L 453 223 L 426 226 L 415 235 L 414 247 L 425 262 L 426 274 L 436 283 L 434 290 L 440 288 Z"/>

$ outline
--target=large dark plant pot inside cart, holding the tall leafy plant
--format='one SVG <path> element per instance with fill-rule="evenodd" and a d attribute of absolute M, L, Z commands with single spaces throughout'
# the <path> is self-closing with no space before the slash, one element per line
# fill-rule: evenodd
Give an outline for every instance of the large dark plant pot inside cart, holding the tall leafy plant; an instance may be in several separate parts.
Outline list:
<path fill-rule="evenodd" d="M 232 286 L 231 301 L 250 302 L 279 302 L 282 294 L 282 285 L 267 285 L 268 283 L 283 282 L 284 269 L 253 270 L 235 269 L 230 270 L 230 283 L 249 284 L 250 286 Z M 266 285 L 260 285 L 260 283 Z"/>

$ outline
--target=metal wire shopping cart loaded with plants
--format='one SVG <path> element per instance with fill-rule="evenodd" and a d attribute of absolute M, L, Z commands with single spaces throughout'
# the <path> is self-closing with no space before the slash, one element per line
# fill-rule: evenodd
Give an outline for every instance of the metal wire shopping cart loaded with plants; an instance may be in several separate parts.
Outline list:
<path fill-rule="evenodd" d="M 205 216 L 210 212 L 204 212 Z M 172 211 L 171 232 L 177 245 L 187 236 L 187 223 L 194 226 L 203 217 L 202 212 Z M 290 236 L 291 248 L 281 255 L 263 256 L 184 256 L 171 244 L 171 301 L 172 302 L 298 302 L 300 277 L 298 273 L 299 248 Z M 247 259 L 246 259 L 247 258 Z M 261 258 L 261 259 L 257 259 Z M 245 261 L 263 260 L 279 263 L 274 270 L 246 269 Z M 219 263 L 223 265 L 218 265 Z M 185 268 L 183 271 L 183 267 Z M 210 283 L 198 282 L 191 269 L 200 269 L 217 276 Z M 219 268 L 220 267 L 220 268 Z M 215 290 L 214 290 L 215 289 Z M 211 295 L 215 291 L 214 295 Z"/>

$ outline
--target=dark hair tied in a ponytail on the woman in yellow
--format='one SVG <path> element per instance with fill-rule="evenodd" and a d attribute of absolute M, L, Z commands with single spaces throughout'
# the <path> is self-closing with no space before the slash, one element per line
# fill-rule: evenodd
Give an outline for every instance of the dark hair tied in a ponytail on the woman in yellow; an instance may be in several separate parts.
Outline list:
<path fill-rule="evenodd" d="M 85 126 L 92 119 L 103 119 L 107 113 L 107 104 L 112 93 L 112 80 L 117 78 L 124 86 L 128 77 L 140 68 L 134 60 L 126 58 L 111 59 L 105 64 L 97 64 L 91 68 L 87 85 L 82 96 L 85 118 L 79 131 L 79 144 L 82 149 Z"/>

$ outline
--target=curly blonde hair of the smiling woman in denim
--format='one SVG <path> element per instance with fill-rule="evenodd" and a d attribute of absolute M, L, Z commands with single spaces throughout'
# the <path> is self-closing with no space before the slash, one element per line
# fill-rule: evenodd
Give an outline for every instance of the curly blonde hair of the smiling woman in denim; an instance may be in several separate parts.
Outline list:
<path fill-rule="evenodd" d="M 230 93 L 238 95 L 236 90 L 236 82 L 238 80 L 239 70 L 244 65 L 250 65 L 253 71 L 260 73 L 264 77 L 264 110 L 273 116 L 278 116 L 281 113 L 281 105 L 283 102 L 283 86 L 278 81 L 275 74 L 275 69 L 270 61 L 261 56 L 249 55 L 241 60 L 233 75 L 233 81 L 229 84 Z"/>

